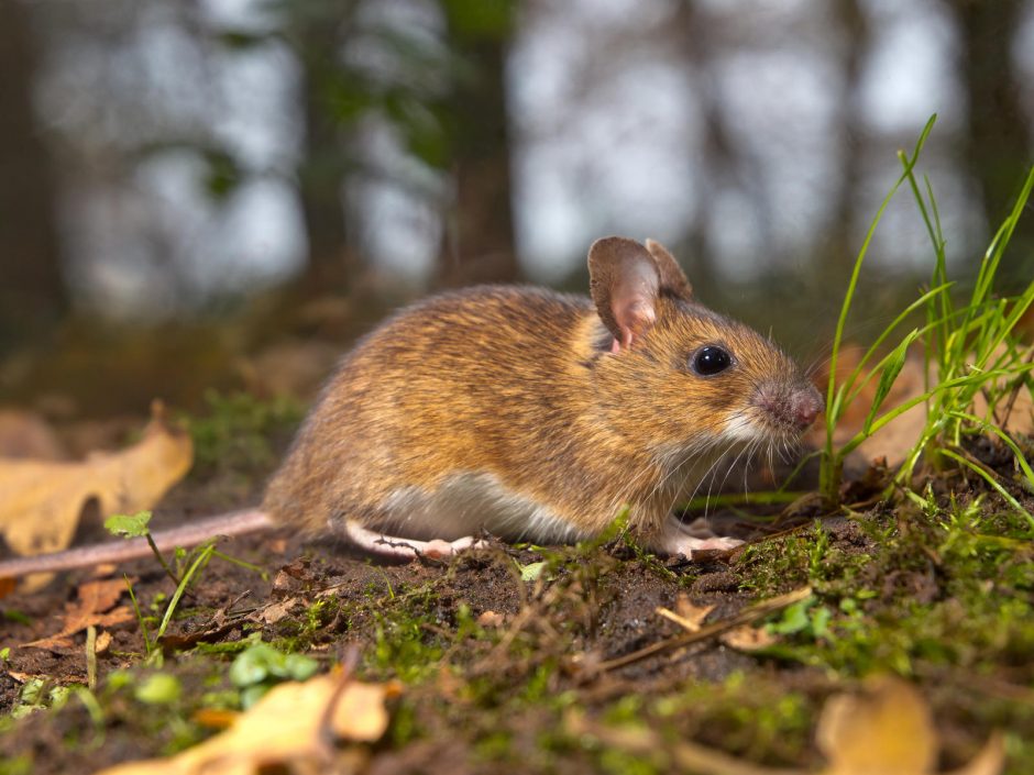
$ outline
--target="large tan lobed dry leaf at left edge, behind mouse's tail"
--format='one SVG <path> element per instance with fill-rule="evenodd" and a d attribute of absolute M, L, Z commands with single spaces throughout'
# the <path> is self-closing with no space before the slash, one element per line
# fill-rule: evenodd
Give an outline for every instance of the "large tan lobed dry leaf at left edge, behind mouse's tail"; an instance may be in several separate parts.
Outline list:
<path fill-rule="evenodd" d="M 193 460 L 190 436 L 169 428 L 155 402 L 143 439 L 122 452 L 81 463 L 0 461 L 0 532 L 15 554 L 61 551 L 90 501 L 102 517 L 150 509 Z"/>

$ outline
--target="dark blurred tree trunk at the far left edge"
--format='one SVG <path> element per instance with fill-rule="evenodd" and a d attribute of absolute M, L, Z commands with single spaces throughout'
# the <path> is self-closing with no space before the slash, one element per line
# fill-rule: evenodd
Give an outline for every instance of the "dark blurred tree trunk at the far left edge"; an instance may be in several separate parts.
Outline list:
<path fill-rule="evenodd" d="M 0 0 L 0 350 L 68 308 L 52 159 L 32 106 L 35 40 L 28 3 Z"/>

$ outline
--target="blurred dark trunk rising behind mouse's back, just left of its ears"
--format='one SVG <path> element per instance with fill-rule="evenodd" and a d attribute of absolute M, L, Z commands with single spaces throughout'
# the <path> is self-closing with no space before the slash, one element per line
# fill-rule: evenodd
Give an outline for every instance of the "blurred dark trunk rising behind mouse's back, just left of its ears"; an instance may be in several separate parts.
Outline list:
<path fill-rule="evenodd" d="M 450 49 L 464 67 L 449 100 L 454 199 L 444 224 L 439 281 L 508 283 L 519 276 L 506 110 L 512 1 L 443 0 L 442 8 Z"/>

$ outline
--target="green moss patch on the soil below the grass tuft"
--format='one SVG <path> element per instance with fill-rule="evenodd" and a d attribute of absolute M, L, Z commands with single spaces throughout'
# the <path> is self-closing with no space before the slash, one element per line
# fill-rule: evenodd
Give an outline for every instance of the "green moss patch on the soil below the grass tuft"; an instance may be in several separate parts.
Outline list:
<path fill-rule="evenodd" d="M 903 509 L 904 529 L 865 553 L 838 550 L 815 528 L 748 555 L 745 587 L 781 590 L 790 578 L 816 591 L 807 610 L 788 609 L 770 624 L 787 639 L 772 653 L 845 676 L 1020 664 L 1034 649 L 1030 547 L 982 531 L 1023 525 L 947 506 Z"/>

